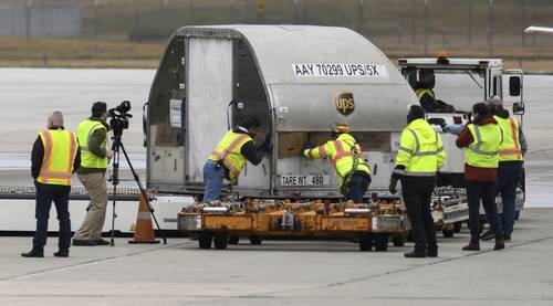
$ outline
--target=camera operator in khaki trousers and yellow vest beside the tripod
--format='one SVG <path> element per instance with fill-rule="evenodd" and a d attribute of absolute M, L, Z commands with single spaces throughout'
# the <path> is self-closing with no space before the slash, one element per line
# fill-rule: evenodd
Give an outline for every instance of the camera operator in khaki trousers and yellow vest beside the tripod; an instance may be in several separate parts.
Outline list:
<path fill-rule="evenodd" d="M 92 116 L 81 122 L 76 129 L 81 147 L 81 168 L 76 172 L 91 202 L 81 228 L 73 235 L 75 246 L 109 245 L 108 241 L 102 239 L 107 205 L 105 172 L 113 157 L 113 151 L 106 148 L 109 130 L 106 119 L 107 105 L 96 102 L 92 105 Z"/>

